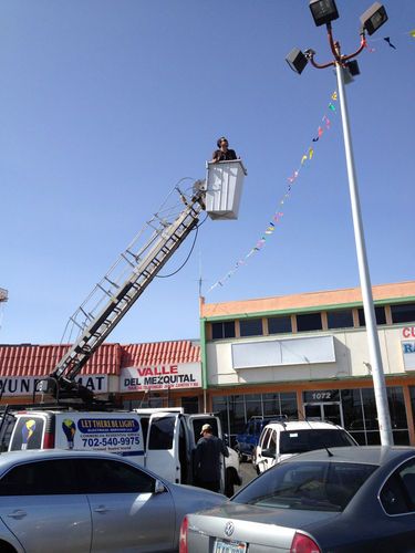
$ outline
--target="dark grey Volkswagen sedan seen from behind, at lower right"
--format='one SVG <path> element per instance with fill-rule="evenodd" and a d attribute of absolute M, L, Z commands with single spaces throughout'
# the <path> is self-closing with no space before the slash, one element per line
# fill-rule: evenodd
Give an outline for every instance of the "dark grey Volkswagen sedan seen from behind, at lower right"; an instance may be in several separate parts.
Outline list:
<path fill-rule="evenodd" d="M 180 553 L 415 552 L 415 449 L 297 456 L 221 507 L 189 514 Z"/>

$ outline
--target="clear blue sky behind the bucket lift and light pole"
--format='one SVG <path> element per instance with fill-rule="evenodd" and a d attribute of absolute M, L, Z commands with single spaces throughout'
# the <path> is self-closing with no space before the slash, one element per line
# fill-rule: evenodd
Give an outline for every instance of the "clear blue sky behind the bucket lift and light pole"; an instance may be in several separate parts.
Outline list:
<path fill-rule="evenodd" d="M 338 0 L 359 45 L 366 4 Z M 332 70 L 301 76 L 293 46 L 329 61 L 308 0 L 4 0 L 0 4 L 0 343 L 58 343 L 68 317 L 183 177 L 204 178 L 218 136 L 249 175 L 239 219 L 200 228 L 110 336 L 199 336 L 203 293 L 256 244 L 328 113 Z M 367 7 L 371 0 L 367 2 Z M 415 278 L 413 0 L 360 59 L 349 109 L 373 284 Z M 391 36 L 396 50 L 383 40 Z M 186 259 L 188 239 L 165 268 Z M 224 302 L 359 285 L 340 114 L 301 171 L 278 230 Z"/>

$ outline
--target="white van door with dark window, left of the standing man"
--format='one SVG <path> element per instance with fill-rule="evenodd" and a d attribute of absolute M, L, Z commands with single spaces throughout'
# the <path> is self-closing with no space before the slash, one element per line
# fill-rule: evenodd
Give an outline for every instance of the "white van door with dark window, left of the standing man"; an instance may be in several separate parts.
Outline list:
<path fill-rule="evenodd" d="M 169 482 L 180 483 L 178 413 L 151 416 L 145 465 Z"/>

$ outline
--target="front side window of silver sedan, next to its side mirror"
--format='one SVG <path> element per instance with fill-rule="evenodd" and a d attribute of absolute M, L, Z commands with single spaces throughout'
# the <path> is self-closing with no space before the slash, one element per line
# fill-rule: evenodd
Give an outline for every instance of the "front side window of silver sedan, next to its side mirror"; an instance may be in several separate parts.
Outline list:
<path fill-rule="evenodd" d="M 122 461 L 112 459 L 76 459 L 76 474 L 81 474 L 83 493 L 151 493 L 153 477 Z"/>

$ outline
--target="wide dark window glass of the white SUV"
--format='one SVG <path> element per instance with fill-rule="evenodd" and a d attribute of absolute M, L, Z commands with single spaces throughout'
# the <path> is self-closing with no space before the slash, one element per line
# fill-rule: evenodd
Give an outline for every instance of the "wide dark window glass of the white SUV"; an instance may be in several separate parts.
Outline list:
<path fill-rule="evenodd" d="M 286 430 L 280 434 L 280 453 L 300 453 L 326 447 L 355 446 L 346 431 L 340 429 L 310 428 L 307 430 Z"/>

